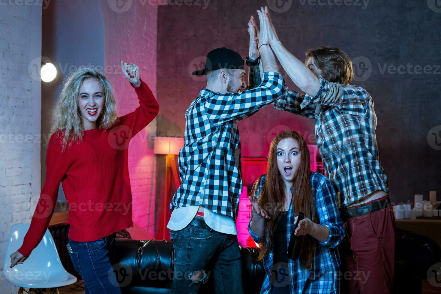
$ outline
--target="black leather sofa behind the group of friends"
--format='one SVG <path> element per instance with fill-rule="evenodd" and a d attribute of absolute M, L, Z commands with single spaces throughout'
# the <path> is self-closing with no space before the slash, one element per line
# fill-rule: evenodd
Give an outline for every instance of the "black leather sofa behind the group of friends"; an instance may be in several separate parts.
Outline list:
<path fill-rule="evenodd" d="M 158 240 L 116 239 L 115 271 L 123 293 L 170 293 L 172 243 Z M 256 249 L 242 247 L 244 293 L 259 293 L 264 271 L 256 262 Z M 395 275 L 392 293 L 421 293 L 423 279 L 433 264 L 441 261 L 441 249 L 429 237 L 396 230 Z M 214 293 L 210 279 L 201 293 Z M 234 289 L 232 289 L 234 293 Z"/>

